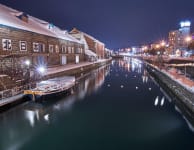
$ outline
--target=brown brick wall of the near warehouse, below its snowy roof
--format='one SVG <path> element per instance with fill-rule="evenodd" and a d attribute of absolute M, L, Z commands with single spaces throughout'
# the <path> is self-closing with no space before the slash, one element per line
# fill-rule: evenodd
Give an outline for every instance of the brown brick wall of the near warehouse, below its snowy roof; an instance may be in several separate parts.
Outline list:
<path fill-rule="evenodd" d="M 10 41 L 11 48 L 5 46 L 9 45 L 5 43 Z M 26 50 L 20 50 L 20 41 L 24 42 Z M 39 51 L 34 51 L 35 45 L 38 45 Z M 50 45 L 53 45 L 53 51 L 50 51 Z M 7 49 L 4 50 L 3 46 Z M 71 50 L 68 51 L 68 48 Z M 6 62 L 7 66 L 13 67 L 13 59 L 22 63 L 21 60 L 24 57 L 30 59 L 32 65 L 38 65 L 40 62 L 47 66 L 60 65 L 62 54 L 67 55 L 67 63 L 75 63 L 75 54 L 80 56 L 80 62 L 84 61 L 84 45 L 0 25 L 0 56 L 2 57 L 1 61 Z"/>

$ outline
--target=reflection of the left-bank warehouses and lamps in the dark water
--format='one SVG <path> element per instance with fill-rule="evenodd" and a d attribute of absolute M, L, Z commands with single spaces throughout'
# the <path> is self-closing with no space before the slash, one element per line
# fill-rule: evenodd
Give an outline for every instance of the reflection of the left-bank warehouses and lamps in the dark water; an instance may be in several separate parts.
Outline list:
<path fill-rule="evenodd" d="M 50 102 L 46 100 L 43 103 L 31 104 L 31 110 L 29 110 L 29 106 L 27 105 L 25 108 L 25 116 L 29 124 L 34 127 L 35 122 L 40 120 L 49 123 L 55 111 L 70 111 L 75 101 L 82 100 L 86 95 L 98 91 L 109 71 L 110 67 L 106 66 L 82 75 L 81 78 L 77 79 L 74 93 L 59 101 L 53 100 L 53 102 Z M 39 105 L 39 107 L 36 107 L 36 105 Z"/>

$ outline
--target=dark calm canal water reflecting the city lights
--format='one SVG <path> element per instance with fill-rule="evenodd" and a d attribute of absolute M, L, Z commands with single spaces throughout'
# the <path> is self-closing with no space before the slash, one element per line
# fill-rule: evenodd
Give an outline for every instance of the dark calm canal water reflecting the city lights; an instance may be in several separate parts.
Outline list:
<path fill-rule="evenodd" d="M 72 95 L 0 114 L 0 150 L 190 150 L 187 119 L 136 59 L 83 74 Z"/>

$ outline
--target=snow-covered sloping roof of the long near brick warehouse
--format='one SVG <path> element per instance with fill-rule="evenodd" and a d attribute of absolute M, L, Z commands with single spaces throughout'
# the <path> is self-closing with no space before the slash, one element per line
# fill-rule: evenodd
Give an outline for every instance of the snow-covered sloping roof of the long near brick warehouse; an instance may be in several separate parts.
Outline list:
<path fill-rule="evenodd" d="M 50 26 L 51 24 L 44 20 L 28 15 L 28 22 L 22 21 L 18 18 L 22 13 L 21 11 L 0 4 L 0 24 L 83 44 L 81 41 L 69 35 L 68 32 L 56 26 Z"/>

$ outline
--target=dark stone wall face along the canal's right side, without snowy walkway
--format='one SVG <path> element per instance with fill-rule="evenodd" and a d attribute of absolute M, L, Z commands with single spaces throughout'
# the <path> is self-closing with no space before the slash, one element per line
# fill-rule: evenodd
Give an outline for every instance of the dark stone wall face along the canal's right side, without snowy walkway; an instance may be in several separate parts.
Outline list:
<path fill-rule="evenodd" d="M 194 114 L 194 93 L 186 89 L 183 85 L 171 78 L 167 74 L 163 73 L 158 68 L 147 63 L 146 68 L 151 76 L 163 87 L 168 94 L 174 97 L 174 100 L 178 100 L 182 107 L 188 110 L 188 113 Z"/>

